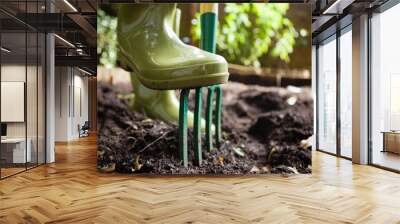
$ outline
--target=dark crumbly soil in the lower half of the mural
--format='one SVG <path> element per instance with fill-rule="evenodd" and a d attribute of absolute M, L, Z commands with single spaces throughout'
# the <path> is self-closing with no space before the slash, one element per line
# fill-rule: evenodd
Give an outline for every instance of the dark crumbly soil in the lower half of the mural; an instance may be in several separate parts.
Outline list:
<path fill-rule="evenodd" d="M 154 174 L 310 173 L 313 101 L 308 88 L 223 85 L 223 143 L 194 165 L 181 165 L 178 127 L 129 110 L 120 88 L 99 83 L 98 168 Z M 191 107 L 194 100 L 191 97 Z M 203 104 L 204 105 L 204 104 Z M 203 140 L 204 143 L 204 140 Z M 237 153 L 244 152 L 244 155 Z M 240 155 L 241 154 L 241 155 Z"/>

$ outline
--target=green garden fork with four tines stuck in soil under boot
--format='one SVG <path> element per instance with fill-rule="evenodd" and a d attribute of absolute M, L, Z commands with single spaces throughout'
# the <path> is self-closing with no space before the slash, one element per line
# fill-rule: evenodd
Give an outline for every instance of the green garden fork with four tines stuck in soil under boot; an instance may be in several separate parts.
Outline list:
<path fill-rule="evenodd" d="M 216 3 L 200 4 L 200 23 L 201 23 L 201 40 L 200 47 L 211 53 L 215 53 L 216 48 L 216 26 L 217 26 L 217 10 Z M 208 151 L 213 149 L 213 130 L 215 125 L 216 144 L 219 146 L 221 142 L 221 113 L 222 113 L 222 90 L 220 85 L 198 87 L 195 89 L 195 109 L 194 109 L 194 154 L 197 165 L 202 163 L 201 153 L 201 112 L 203 89 L 208 90 L 206 105 L 206 147 Z M 188 166 L 188 97 L 190 89 L 182 89 L 180 93 L 179 106 L 179 153 L 180 159 L 185 167 Z M 213 100 L 216 95 L 215 120 L 213 119 Z"/>

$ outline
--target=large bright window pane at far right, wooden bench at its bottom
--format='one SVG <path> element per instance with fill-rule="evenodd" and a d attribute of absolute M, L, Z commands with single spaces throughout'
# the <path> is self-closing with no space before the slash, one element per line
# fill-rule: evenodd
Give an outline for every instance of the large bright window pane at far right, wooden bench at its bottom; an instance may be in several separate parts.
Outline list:
<path fill-rule="evenodd" d="M 400 170 L 400 5 L 372 18 L 372 163 Z"/>

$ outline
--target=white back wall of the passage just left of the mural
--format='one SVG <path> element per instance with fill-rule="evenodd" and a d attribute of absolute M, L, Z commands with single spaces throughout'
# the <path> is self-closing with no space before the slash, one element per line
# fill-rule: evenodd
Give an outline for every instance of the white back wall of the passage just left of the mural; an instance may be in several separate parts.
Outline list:
<path fill-rule="evenodd" d="M 78 124 L 88 121 L 88 78 L 83 75 L 73 67 L 56 67 L 56 141 L 79 138 Z"/>

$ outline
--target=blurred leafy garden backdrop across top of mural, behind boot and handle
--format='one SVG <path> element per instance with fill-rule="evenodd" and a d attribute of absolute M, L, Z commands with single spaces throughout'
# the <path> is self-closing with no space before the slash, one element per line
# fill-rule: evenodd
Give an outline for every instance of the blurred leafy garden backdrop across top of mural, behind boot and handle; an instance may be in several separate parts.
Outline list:
<path fill-rule="evenodd" d="M 180 38 L 198 46 L 199 4 L 178 4 Z M 102 66 L 117 60 L 116 12 L 97 13 L 97 53 Z M 307 4 L 226 3 L 219 5 L 217 53 L 231 64 L 254 68 L 311 70 L 311 9 Z M 304 75 L 303 75 L 304 76 Z"/>

